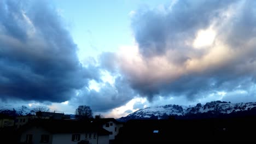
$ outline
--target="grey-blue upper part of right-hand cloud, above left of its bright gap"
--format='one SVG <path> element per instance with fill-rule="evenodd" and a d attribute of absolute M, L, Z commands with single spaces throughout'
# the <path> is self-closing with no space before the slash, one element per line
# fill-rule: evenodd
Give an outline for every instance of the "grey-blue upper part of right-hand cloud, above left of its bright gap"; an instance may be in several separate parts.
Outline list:
<path fill-rule="evenodd" d="M 132 28 L 143 56 L 165 55 L 170 49 L 185 49 L 193 39 L 234 1 L 179 1 L 169 7 L 143 8 L 132 19 Z"/>

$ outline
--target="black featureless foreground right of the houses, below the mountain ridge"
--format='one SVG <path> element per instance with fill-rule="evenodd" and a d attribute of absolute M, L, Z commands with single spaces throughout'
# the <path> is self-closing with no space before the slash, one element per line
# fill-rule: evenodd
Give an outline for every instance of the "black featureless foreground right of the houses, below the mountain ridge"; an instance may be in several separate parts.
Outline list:
<path fill-rule="evenodd" d="M 256 117 L 130 120 L 116 143 L 256 143 Z"/>

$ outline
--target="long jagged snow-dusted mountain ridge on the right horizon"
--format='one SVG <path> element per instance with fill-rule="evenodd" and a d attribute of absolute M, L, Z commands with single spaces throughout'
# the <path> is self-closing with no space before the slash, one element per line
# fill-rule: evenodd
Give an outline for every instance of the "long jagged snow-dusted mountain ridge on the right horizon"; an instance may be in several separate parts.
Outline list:
<path fill-rule="evenodd" d="M 255 108 L 253 108 L 255 107 Z M 118 121 L 128 121 L 129 119 L 165 119 L 170 116 L 188 117 L 192 115 L 211 113 L 211 115 L 225 115 L 235 112 L 249 111 L 256 109 L 256 103 L 228 103 L 225 101 L 211 101 L 205 105 L 197 104 L 196 106 L 179 106 L 164 105 L 157 107 L 147 107 L 131 113 L 126 117 L 121 117 Z"/>

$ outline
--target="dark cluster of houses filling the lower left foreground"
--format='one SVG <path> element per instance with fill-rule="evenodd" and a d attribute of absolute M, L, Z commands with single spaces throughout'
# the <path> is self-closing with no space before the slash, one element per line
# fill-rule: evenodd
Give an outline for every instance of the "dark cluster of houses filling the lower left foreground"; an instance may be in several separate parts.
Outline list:
<path fill-rule="evenodd" d="M 13 117 L 0 117 L 0 124 L 4 123 L 0 125 L 0 143 L 108 144 L 123 127 L 114 118 L 66 119 L 59 113 L 56 117 L 41 114 L 40 117 L 19 116 L 15 121 Z"/>

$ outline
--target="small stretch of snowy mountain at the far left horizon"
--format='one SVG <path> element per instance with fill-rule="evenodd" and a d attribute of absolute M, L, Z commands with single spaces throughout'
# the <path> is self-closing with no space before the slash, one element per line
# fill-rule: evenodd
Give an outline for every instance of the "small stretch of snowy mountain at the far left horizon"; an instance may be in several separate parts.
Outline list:
<path fill-rule="evenodd" d="M 0 113 L 5 113 L 9 116 L 25 116 L 31 112 L 32 109 L 22 105 L 13 107 L 10 105 L 0 106 Z"/>

